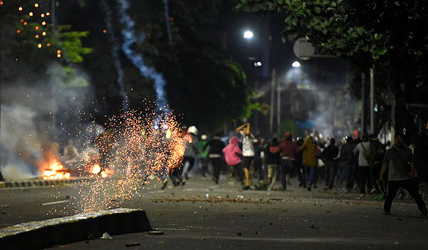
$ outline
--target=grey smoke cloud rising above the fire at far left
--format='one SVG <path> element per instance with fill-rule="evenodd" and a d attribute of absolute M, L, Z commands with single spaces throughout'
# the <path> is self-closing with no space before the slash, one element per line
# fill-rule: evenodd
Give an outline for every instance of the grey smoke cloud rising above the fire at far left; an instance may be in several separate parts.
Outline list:
<path fill-rule="evenodd" d="M 61 159 L 68 139 L 86 140 L 93 105 L 88 76 L 78 68 L 53 64 L 46 77 L 1 83 L 1 162 L 4 179 L 41 175 L 47 157 Z"/>

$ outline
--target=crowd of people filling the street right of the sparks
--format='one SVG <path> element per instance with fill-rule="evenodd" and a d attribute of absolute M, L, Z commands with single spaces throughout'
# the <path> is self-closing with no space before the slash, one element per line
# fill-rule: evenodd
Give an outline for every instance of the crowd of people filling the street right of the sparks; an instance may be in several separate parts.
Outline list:
<path fill-rule="evenodd" d="M 347 193 L 358 192 L 361 197 L 379 194 L 385 199 L 385 214 L 390 214 L 392 199 L 397 194 L 403 198 L 407 190 L 421 213 L 427 214 L 418 191 L 419 177 L 427 175 L 427 169 L 415 167 L 414 147 L 404 144 L 403 134 L 397 134 L 394 145 L 390 146 L 382 144 L 374 134 L 363 134 L 360 138 L 346 136 L 338 141 L 329 138 L 325 142 L 314 134 L 306 133 L 303 139 L 285 132 L 281 139 L 273 137 L 265 141 L 251 133 L 248 123 L 235 132 L 230 138 L 215 134 L 208 139 L 205 134 L 199 137 L 198 129 L 190 126 L 184 171 L 171 174 L 175 176 L 171 179 L 178 179 L 173 180 L 174 185 L 184 185 L 189 172 L 198 165 L 204 178 L 212 174 L 215 184 L 223 171 L 244 190 L 285 191 L 295 178 L 295 185 L 307 191 L 337 188 Z M 162 188 L 167 181 L 163 181 Z M 428 181 L 427 177 L 424 181 Z"/>

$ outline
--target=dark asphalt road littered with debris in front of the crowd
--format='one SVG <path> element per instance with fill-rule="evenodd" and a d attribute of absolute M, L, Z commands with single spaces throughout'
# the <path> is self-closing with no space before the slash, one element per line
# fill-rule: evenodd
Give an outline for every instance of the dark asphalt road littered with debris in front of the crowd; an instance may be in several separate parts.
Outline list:
<path fill-rule="evenodd" d="M 428 216 L 419 216 L 412 200 L 395 201 L 393 215 L 383 216 L 375 195 L 360 199 L 322 188 L 242 191 L 224 176 L 218 185 L 193 178 L 183 187 L 145 186 L 121 206 L 146 210 L 164 235 L 126 234 L 52 249 L 428 249 Z M 63 216 L 50 211 L 71 195 L 73 185 L 0 189 L 0 227 Z M 133 242 L 140 245 L 126 246 Z"/>

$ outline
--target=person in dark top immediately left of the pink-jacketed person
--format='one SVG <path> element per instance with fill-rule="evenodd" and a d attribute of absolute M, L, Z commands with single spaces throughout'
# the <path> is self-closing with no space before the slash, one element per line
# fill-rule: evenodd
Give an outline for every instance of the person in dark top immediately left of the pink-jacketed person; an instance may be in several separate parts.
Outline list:
<path fill-rule="evenodd" d="M 210 139 L 207 144 L 203 147 L 203 150 L 208 150 L 208 159 L 213 164 L 213 180 L 215 184 L 218 184 L 220 178 L 220 169 L 223 165 L 223 149 L 225 144 L 220 140 L 220 134 L 215 134 L 213 139 Z M 238 147 L 239 149 L 239 147 Z"/>

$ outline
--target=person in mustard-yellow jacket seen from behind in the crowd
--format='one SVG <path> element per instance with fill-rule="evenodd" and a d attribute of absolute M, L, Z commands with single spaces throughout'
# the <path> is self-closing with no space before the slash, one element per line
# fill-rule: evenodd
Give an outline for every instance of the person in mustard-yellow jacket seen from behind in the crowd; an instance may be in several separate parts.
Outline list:
<path fill-rule="evenodd" d="M 312 136 L 307 136 L 299 149 L 303 151 L 303 166 L 305 166 L 305 174 L 308 181 L 307 191 L 310 191 L 314 183 L 317 166 L 317 158 L 315 157 L 316 146 Z"/>

